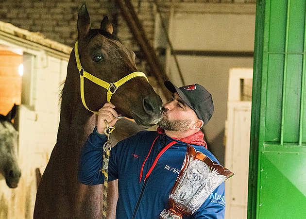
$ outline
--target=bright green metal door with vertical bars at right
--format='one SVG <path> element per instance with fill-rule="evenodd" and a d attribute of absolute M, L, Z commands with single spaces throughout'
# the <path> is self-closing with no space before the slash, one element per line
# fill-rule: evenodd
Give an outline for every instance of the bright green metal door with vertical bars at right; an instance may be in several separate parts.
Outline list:
<path fill-rule="evenodd" d="M 249 219 L 306 219 L 306 0 L 257 0 Z"/>

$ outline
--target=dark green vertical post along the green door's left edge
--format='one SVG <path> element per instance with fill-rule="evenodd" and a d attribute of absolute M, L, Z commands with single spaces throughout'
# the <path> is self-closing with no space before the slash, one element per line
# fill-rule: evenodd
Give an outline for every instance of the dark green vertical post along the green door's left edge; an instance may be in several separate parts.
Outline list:
<path fill-rule="evenodd" d="M 269 2 L 267 2 L 267 5 Z M 250 133 L 250 160 L 249 160 L 249 185 L 248 185 L 248 219 L 258 218 L 259 212 L 259 192 L 260 192 L 260 144 L 262 142 L 260 119 L 262 108 L 262 84 L 263 63 L 266 62 L 266 53 L 264 53 L 265 45 L 268 43 L 269 37 L 265 39 L 265 25 L 269 23 L 269 19 L 265 23 L 265 14 L 269 11 L 266 4 L 256 1 L 256 19 L 255 19 L 255 49 L 254 49 L 254 76 L 252 90 L 252 116 L 251 116 L 251 133 Z M 268 50 L 269 51 L 269 50 Z"/>

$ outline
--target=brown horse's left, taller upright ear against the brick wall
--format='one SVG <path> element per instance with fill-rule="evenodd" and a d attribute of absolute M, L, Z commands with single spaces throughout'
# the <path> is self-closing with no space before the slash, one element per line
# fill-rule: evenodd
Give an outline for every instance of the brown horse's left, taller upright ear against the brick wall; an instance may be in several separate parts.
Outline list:
<path fill-rule="evenodd" d="M 85 4 L 79 9 L 77 27 L 78 34 L 82 38 L 85 37 L 90 30 L 90 17 Z"/>

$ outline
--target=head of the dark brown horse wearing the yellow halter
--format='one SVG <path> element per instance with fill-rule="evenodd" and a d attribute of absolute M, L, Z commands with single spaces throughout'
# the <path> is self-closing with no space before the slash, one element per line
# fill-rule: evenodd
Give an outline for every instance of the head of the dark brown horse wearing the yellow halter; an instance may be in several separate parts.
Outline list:
<path fill-rule="evenodd" d="M 100 29 L 90 29 L 90 17 L 83 5 L 79 10 L 77 27 L 78 52 L 85 72 L 107 83 L 114 83 L 137 71 L 135 53 L 112 34 L 113 26 L 107 17 L 102 20 Z M 84 79 L 84 99 L 88 109 L 98 111 L 107 101 L 106 93 L 102 86 Z M 110 101 L 119 114 L 134 118 L 144 128 L 151 127 L 162 118 L 162 101 L 146 77 L 128 80 L 118 87 Z"/>

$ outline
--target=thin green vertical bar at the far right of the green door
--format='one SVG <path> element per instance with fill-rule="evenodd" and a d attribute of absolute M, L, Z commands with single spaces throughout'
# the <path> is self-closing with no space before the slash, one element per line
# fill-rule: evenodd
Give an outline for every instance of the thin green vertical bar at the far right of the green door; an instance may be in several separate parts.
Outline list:
<path fill-rule="evenodd" d="M 305 5 L 305 23 L 304 23 L 303 67 L 302 67 L 302 80 L 301 80 L 299 146 L 302 146 L 302 137 L 303 137 L 304 93 L 305 93 L 305 74 L 306 74 L 306 54 L 305 53 L 306 53 L 306 5 Z"/>

